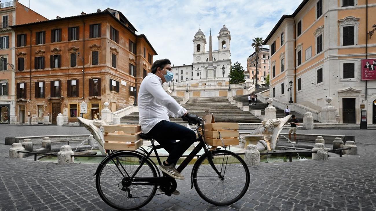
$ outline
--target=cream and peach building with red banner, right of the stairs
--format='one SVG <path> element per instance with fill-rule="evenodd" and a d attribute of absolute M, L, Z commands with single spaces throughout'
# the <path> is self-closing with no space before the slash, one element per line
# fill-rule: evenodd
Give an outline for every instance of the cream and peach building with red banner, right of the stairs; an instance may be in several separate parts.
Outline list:
<path fill-rule="evenodd" d="M 376 0 L 304 0 L 265 39 L 270 96 L 317 109 L 332 97 L 340 123 L 376 124 L 376 80 L 361 80 L 361 60 L 376 59 Z"/>

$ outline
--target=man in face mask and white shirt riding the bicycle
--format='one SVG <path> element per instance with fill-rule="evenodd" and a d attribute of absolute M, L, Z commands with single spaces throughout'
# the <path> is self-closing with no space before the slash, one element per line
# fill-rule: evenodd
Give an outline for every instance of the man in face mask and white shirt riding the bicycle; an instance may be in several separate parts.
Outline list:
<path fill-rule="evenodd" d="M 175 179 L 184 179 L 175 168 L 183 153 L 196 141 L 196 133 L 183 125 L 170 122 L 169 115 L 181 117 L 190 124 L 198 124 L 200 118 L 187 112 L 168 95 L 162 84 L 173 79 L 171 62 L 156 60 L 141 83 L 138 92 L 139 124 L 143 133 L 155 139 L 169 153 L 159 169 Z M 179 140 L 179 142 L 176 142 Z"/>

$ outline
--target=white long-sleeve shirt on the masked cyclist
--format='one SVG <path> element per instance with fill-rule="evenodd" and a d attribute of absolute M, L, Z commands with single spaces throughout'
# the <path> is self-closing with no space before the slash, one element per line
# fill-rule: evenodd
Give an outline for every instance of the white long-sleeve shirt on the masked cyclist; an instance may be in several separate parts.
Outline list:
<path fill-rule="evenodd" d="M 139 123 L 143 133 L 149 133 L 162 120 L 170 121 L 169 115 L 181 117 L 186 111 L 166 93 L 161 78 L 153 73 L 144 78 L 138 91 Z"/>

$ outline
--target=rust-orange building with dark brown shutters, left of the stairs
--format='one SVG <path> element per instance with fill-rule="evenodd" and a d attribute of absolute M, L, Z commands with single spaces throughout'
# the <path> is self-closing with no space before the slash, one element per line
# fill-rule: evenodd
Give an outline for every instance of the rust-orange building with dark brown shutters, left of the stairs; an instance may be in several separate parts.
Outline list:
<path fill-rule="evenodd" d="M 100 118 L 136 104 L 156 51 L 113 9 L 12 26 L 17 35 L 17 122 L 56 124 Z M 81 112 L 82 110 L 82 112 Z M 25 111 L 25 112 L 23 112 Z"/>

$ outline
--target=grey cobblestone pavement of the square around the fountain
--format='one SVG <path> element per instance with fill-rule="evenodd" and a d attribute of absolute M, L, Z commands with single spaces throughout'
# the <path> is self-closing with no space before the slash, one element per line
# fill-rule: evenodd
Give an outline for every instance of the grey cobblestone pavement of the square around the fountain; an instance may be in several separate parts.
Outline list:
<path fill-rule="evenodd" d="M 31 128 L 31 129 L 30 129 Z M 0 138 L 25 134 L 87 134 L 84 128 L 0 126 Z M 30 132 L 32 130 L 32 132 Z M 48 130 L 48 131 L 47 131 Z M 61 131 L 57 131 L 61 130 Z M 13 132 L 12 132 L 13 131 Z M 376 132 L 374 130 L 312 130 L 311 134 L 355 135 L 359 155 L 330 157 L 328 161 L 262 163 L 249 167 L 246 195 L 230 206 L 202 200 L 190 181 L 177 181 L 179 196 L 155 196 L 141 210 L 376 210 Z M 98 196 L 97 165 L 9 159 L 9 146 L 0 144 L 0 210 L 113 210 Z M 183 171 L 190 177 L 191 166 Z"/>

